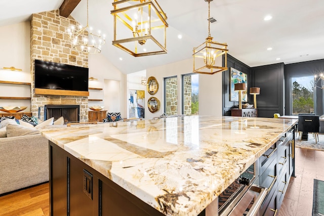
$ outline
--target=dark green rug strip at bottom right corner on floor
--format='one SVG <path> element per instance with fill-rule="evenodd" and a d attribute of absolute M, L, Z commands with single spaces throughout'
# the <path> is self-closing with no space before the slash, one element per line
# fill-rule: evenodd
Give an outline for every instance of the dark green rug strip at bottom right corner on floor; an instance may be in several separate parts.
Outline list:
<path fill-rule="evenodd" d="M 314 179 L 312 216 L 324 215 L 324 182 Z"/>

